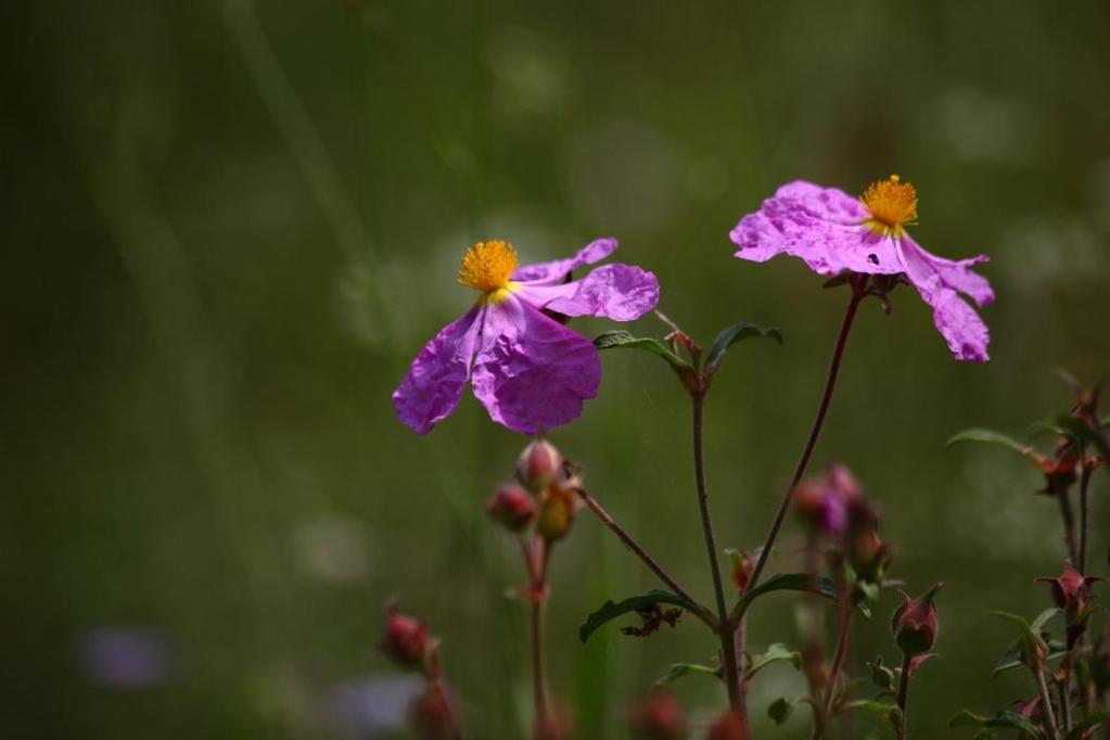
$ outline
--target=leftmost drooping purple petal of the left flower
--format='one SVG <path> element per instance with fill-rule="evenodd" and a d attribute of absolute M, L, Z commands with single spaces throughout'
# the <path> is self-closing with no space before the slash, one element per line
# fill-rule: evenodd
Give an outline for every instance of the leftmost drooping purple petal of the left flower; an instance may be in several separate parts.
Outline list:
<path fill-rule="evenodd" d="M 458 405 L 477 352 L 482 314 L 476 305 L 428 342 L 393 392 L 397 418 L 416 434 L 427 434 Z"/>

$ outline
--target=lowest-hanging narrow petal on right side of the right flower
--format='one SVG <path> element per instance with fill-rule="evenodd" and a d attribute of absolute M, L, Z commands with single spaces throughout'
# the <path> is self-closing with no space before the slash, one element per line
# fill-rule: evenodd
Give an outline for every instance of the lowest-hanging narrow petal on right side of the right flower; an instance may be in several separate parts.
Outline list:
<path fill-rule="evenodd" d="M 990 331 L 928 259 L 931 255 L 909 239 L 902 240 L 899 251 L 906 264 L 906 276 L 932 307 L 932 323 L 956 358 L 977 363 L 990 359 L 987 354 Z"/>

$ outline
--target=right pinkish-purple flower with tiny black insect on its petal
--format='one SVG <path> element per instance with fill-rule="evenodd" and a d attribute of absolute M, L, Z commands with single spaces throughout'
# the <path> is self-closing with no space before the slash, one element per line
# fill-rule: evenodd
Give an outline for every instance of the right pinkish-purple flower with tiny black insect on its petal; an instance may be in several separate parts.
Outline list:
<path fill-rule="evenodd" d="M 845 270 L 905 275 L 932 307 L 932 321 L 956 358 L 986 362 L 987 325 L 959 294 L 980 306 L 995 300 L 987 278 L 971 272 L 987 257 L 952 262 L 929 254 L 906 232 L 916 220 L 917 191 L 898 175 L 876 182 L 859 200 L 798 181 L 779 187 L 729 236 L 740 260 L 766 262 L 786 253 L 821 275 Z"/>

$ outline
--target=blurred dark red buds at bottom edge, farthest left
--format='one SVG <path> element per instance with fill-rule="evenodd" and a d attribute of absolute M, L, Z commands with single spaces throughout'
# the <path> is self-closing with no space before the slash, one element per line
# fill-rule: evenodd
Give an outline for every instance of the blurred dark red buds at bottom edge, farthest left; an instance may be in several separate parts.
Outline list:
<path fill-rule="evenodd" d="M 420 672 L 426 686 L 408 707 L 414 734 L 424 740 L 457 740 L 458 726 L 440 680 L 440 641 L 420 619 L 401 614 L 396 601 L 385 605 L 385 630 L 379 645 L 397 668 Z"/>

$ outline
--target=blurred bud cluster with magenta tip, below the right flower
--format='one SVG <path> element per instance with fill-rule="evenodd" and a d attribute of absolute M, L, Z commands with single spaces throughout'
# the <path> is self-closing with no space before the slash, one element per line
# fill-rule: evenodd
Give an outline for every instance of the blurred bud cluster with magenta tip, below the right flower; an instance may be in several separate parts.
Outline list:
<path fill-rule="evenodd" d="M 890 546 L 879 537 L 879 514 L 865 498 L 856 476 L 834 464 L 824 476 L 801 481 L 795 511 L 817 540 L 835 543 L 847 581 L 868 598 L 878 596 L 890 565 Z"/>

